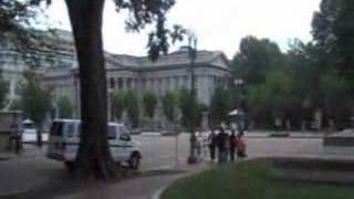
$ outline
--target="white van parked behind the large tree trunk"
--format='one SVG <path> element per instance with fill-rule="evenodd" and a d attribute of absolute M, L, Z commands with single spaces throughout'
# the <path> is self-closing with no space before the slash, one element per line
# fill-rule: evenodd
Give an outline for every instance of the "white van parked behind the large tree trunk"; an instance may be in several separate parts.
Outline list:
<path fill-rule="evenodd" d="M 80 144 L 81 122 L 77 119 L 55 119 L 49 137 L 46 157 L 64 161 L 73 168 Z M 123 124 L 108 123 L 108 144 L 115 163 L 127 163 L 131 169 L 138 169 L 142 151 Z"/>

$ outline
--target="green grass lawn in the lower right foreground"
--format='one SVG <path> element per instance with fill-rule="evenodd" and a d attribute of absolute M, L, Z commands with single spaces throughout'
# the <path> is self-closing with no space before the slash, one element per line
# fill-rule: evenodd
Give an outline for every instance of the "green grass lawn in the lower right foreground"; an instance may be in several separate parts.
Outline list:
<path fill-rule="evenodd" d="M 267 161 L 243 161 L 177 180 L 162 199 L 353 199 L 354 187 L 275 179 Z"/>

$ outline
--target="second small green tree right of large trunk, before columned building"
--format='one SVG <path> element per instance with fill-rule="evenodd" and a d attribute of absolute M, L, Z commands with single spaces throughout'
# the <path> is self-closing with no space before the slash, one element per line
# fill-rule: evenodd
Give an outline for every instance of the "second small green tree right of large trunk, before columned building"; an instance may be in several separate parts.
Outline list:
<path fill-rule="evenodd" d="M 126 108 L 126 113 L 129 119 L 129 123 L 133 127 L 137 127 L 139 123 L 139 96 L 133 90 L 129 90 L 124 95 L 124 105 Z"/>

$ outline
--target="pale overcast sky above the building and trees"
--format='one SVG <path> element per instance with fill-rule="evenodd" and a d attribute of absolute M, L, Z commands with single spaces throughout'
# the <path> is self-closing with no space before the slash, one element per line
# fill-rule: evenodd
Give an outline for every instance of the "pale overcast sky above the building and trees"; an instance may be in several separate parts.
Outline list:
<path fill-rule="evenodd" d="M 321 0 L 176 0 L 170 24 L 183 24 L 198 35 L 199 50 L 223 51 L 232 57 L 246 35 L 269 38 L 285 49 L 290 39 L 311 40 L 311 20 Z M 53 1 L 50 17 L 70 30 L 64 0 Z M 112 0 L 104 12 L 104 48 L 119 54 L 145 55 L 147 31 L 127 33 L 125 14 L 116 13 Z"/>

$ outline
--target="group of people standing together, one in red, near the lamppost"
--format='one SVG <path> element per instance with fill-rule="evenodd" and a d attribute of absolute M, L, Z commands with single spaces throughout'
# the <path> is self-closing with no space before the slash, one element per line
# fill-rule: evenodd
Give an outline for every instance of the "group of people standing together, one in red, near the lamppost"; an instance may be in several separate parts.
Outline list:
<path fill-rule="evenodd" d="M 235 161 L 247 157 L 246 144 L 242 139 L 243 132 L 239 129 L 238 134 L 232 129 L 231 134 L 227 134 L 222 127 L 219 128 L 219 133 L 215 130 L 208 137 L 208 147 L 210 150 L 210 159 L 218 163 L 227 163 L 228 160 Z"/>

